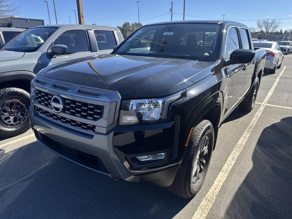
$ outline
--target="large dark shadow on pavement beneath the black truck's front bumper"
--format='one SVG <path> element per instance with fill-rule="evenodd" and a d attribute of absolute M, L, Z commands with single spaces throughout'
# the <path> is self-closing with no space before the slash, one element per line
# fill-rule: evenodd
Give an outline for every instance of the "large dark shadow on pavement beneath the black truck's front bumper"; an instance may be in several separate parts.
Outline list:
<path fill-rule="evenodd" d="M 173 218 L 191 200 L 113 180 L 38 142 L 0 152 L 0 218 Z"/>

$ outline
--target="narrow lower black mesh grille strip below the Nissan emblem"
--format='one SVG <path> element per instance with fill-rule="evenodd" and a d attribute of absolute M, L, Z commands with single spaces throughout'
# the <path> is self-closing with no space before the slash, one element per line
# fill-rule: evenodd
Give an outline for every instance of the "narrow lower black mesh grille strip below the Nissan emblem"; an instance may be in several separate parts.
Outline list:
<path fill-rule="evenodd" d="M 83 122 L 79 122 L 79 121 L 75 121 L 73 119 L 68 119 L 68 118 L 65 118 L 65 117 L 62 117 L 62 116 L 59 116 L 57 114 L 54 114 L 54 113 L 51 113 L 51 112 L 48 112 L 44 109 L 41 109 L 39 107 L 35 107 L 36 109 L 36 112 L 44 115 L 44 116 L 47 116 L 55 121 L 58 121 L 58 122 L 61 122 L 61 123 L 64 123 L 64 124 L 67 124 L 69 126 L 74 126 L 74 127 L 77 127 L 77 128 L 80 128 L 80 129 L 84 129 L 84 130 L 87 130 L 87 131 L 90 131 L 90 132 L 95 132 L 95 126 L 94 125 L 91 125 L 91 124 L 86 124 L 86 123 L 83 123 Z"/>

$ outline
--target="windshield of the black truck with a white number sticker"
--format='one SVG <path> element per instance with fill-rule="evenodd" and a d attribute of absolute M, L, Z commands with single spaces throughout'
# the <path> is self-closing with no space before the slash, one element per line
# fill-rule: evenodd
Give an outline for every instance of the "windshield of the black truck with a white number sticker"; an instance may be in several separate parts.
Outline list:
<path fill-rule="evenodd" d="M 217 24 L 194 23 L 145 26 L 114 54 L 215 61 L 220 28 Z"/>

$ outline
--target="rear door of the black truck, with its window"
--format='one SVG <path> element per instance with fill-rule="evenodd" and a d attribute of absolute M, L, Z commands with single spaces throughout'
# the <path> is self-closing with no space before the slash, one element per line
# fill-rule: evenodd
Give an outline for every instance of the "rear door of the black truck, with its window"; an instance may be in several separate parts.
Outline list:
<path fill-rule="evenodd" d="M 250 49 L 251 47 L 251 37 L 249 35 L 248 29 L 246 28 L 239 28 L 240 30 L 240 36 L 241 36 L 241 48 L 243 49 Z M 243 95 L 245 95 L 249 89 L 251 88 L 251 81 L 255 69 L 255 63 L 256 63 L 256 57 L 252 60 L 250 63 L 246 63 L 245 66 L 245 80 L 244 80 L 244 86 L 243 86 Z"/>

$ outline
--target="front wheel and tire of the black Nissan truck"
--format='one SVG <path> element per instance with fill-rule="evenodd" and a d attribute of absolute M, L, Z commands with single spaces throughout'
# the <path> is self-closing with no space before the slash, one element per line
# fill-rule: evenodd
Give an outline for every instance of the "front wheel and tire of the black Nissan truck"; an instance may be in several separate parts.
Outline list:
<path fill-rule="evenodd" d="M 210 121 L 201 121 L 192 132 L 187 152 L 168 190 L 191 198 L 201 189 L 213 151 L 214 129 Z"/>

